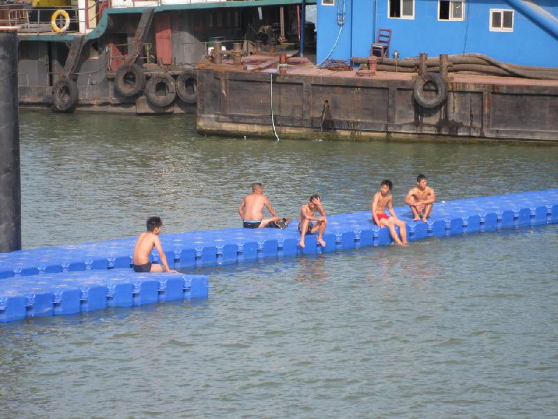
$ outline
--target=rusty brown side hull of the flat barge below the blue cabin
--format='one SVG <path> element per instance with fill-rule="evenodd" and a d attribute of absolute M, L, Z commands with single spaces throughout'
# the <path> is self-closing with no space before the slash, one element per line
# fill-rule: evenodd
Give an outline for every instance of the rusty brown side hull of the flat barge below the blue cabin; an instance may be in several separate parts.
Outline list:
<path fill-rule="evenodd" d="M 289 68 L 287 75 L 198 70 L 197 130 L 284 138 L 416 138 L 416 135 L 558 141 L 558 82 L 458 75 L 446 101 L 422 108 L 414 76 Z"/>

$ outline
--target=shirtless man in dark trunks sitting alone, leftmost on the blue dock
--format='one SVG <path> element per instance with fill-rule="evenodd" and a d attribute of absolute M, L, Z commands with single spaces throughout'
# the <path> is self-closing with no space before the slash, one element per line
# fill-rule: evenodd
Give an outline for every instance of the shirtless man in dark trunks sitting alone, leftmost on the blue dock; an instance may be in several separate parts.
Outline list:
<path fill-rule="evenodd" d="M 163 251 L 163 247 L 161 247 L 161 242 L 158 237 L 161 233 L 161 227 L 163 227 L 163 221 L 161 221 L 158 216 L 151 216 L 147 220 L 147 231 L 144 231 L 140 234 L 140 237 L 137 237 L 133 256 L 135 272 L 178 273 L 178 271 L 169 269 L 167 256 L 165 256 L 165 252 Z M 159 258 L 161 260 L 160 265 L 158 263 L 151 263 L 149 260 L 149 254 L 153 250 L 153 247 L 159 252 Z"/>

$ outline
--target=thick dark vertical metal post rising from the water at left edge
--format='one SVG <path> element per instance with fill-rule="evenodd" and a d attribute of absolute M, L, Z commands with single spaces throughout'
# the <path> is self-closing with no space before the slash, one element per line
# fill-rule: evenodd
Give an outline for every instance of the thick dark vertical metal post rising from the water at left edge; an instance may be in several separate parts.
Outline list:
<path fill-rule="evenodd" d="M 22 248 L 17 29 L 0 27 L 0 252 Z"/>

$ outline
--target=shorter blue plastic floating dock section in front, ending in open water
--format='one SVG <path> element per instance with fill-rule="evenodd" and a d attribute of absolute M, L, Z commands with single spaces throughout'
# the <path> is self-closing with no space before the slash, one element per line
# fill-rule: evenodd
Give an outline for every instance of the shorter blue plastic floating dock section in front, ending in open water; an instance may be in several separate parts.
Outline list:
<path fill-rule="evenodd" d="M 207 297 L 202 275 L 87 270 L 0 280 L 0 322 Z"/>

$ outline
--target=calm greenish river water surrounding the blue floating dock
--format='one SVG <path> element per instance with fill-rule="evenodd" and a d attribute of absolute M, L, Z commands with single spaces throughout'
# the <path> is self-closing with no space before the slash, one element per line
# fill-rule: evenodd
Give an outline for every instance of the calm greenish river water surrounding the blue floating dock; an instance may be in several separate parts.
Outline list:
<path fill-rule="evenodd" d="M 22 113 L 25 247 L 237 226 L 250 182 L 362 210 L 558 187 L 558 148 L 200 138 L 184 117 Z M 558 226 L 199 271 L 208 300 L 0 326 L 6 418 L 554 418 Z"/>

